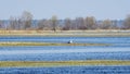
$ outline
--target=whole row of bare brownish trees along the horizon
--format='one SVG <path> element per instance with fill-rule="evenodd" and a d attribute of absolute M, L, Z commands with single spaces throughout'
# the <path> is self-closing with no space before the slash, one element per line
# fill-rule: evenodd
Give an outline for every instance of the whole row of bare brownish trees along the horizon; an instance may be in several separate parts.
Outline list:
<path fill-rule="evenodd" d="M 0 29 L 12 30 L 86 30 L 86 29 L 130 29 L 130 15 L 118 25 L 118 21 L 104 20 L 96 21 L 94 16 L 76 17 L 74 20 L 66 17 L 58 20 L 56 15 L 47 20 L 34 20 L 32 14 L 24 11 L 20 17 L 11 16 L 8 24 L 0 20 Z"/>

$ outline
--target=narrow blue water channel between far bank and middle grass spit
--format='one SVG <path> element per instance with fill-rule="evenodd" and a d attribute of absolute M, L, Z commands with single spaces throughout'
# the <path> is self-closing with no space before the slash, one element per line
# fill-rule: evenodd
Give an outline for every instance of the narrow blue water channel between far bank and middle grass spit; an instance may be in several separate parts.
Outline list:
<path fill-rule="evenodd" d="M 80 44 L 109 44 L 117 47 L 130 47 L 130 37 L 0 37 L 0 41 L 68 42 L 69 40 Z"/>

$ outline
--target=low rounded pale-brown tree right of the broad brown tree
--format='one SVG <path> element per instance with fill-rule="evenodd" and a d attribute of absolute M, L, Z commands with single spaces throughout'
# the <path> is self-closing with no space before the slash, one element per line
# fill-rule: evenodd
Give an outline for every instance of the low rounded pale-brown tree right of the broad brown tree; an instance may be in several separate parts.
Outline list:
<path fill-rule="evenodd" d="M 110 29 L 113 26 L 113 23 L 110 20 L 104 20 L 102 24 L 100 25 L 100 28 L 102 29 Z"/>

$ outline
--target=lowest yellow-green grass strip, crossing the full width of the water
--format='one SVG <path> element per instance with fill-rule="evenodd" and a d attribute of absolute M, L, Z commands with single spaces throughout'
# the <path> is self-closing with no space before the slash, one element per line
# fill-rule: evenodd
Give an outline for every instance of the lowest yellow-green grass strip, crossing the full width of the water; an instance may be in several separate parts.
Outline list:
<path fill-rule="evenodd" d="M 86 65 L 130 65 L 130 61 L 88 60 L 88 61 L 0 61 L 0 67 L 49 67 L 49 66 L 86 66 Z"/>

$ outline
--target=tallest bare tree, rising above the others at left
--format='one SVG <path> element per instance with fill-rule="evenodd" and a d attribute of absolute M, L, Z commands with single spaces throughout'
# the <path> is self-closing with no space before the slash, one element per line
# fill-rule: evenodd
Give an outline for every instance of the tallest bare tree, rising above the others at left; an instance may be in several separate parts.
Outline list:
<path fill-rule="evenodd" d="M 21 20 L 22 20 L 23 29 L 27 29 L 31 27 L 32 14 L 30 12 L 24 11 Z"/>

